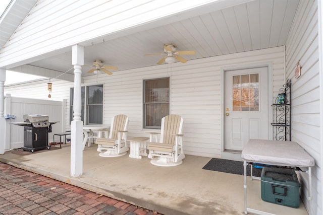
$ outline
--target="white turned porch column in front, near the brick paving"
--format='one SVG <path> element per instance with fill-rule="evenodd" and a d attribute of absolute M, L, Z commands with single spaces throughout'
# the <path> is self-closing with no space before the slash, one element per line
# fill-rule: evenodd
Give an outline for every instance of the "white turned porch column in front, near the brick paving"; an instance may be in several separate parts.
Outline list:
<path fill-rule="evenodd" d="M 74 65 L 74 118 L 71 123 L 71 176 L 79 177 L 83 174 L 83 121 L 81 121 L 82 98 L 81 78 L 84 64 L 84 47 L 72 47 L 72 64 Z"/>

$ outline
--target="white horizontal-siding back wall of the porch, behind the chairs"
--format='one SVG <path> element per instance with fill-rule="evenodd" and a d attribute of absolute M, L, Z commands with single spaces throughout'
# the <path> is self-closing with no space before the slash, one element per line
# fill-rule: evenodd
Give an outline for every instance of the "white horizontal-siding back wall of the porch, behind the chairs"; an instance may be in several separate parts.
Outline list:
<path fill-rule="evenodd" d="M 276 95 L 284 84 L 284 47 L 228 54 L 190 60 L 187 63 L 162 64 L 115 72 L 112 76 L 101 74 L 84 77 L 83 86 L 103 84 L 103 123 L 110 124 L 117 114 L 129 117 L 129 136 L 148 136 L 149 129 L 142 128 L 143 80 L 171 77 L 170 113 L 184 118 L 184 152 L 188 155 L 220 158 L 223 142 L 222 68 L 228 66 L 272 64 L 270 91 Z M 51 100 L 67 99 L 66 125 L 69 128 L 70 88 L 73 83 L 51 81 Z M 48 99 L 46 82 L 6 87 L 12 96 Z"/>

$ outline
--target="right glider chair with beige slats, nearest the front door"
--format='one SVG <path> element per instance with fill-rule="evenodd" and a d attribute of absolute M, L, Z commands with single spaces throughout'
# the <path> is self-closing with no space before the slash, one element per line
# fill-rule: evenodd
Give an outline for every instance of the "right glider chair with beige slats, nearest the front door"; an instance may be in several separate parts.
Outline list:
<path fill-rule="evenodd" d="M 159 133 L 150 133 L 150 142 L 147 143 L 149 150 L 148 158 L 155 166 L 171 167 L 183 163 L 182 141 L 183 118 L 179 115 L 168 115 L 161 119 Z M 159 134 L 159 141 L 152 142 L 153 136 Z M 155 138 L 157 139 L 157 138 Z"/>

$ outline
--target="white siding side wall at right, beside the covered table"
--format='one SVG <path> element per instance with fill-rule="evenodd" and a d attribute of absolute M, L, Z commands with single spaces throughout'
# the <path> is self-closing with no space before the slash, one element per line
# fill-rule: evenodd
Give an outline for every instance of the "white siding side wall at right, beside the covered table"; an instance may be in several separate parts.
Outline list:
<path fill-rule="evenodd" d="M 305 149 L 315 160 L 312 171 L 312 214 L 323 214 L 322 163 L 320 152 L 322 128 L 320 125 L 320 82 L 317 1 L 300 1 L 294 23 L 286 43 L 286 76 L 292 82 L 292 141 Z M 301 76 L 296 79 L 294 70 L 301 65 Z M 300 174 L 302 198 L 306 199 L 307 175 Z M 308 208 L 307 201 L 304 201 Z"/>

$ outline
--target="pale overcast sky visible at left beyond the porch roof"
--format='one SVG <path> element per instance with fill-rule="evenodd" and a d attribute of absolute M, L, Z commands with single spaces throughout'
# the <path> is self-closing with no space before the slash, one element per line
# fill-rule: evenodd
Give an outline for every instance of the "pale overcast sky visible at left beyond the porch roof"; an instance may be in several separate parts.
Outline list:
<path fill-rule="evenodd" d="M 0 0 L 0 15 L 2 15 L 7 6 L 11 0 Z M 5 85 L 11 85 L 11 84 L 16 84 L 16 83 L 22 83 L 26 81 L 31 81 L 35 79 L 42 79 L 44 77 L 40 76 L 33 76 L 33 75 L 28 75 L 28 74 L 23 74 L 23 73 L 16 73 L 14 71 L 6 71 L 6 81 Z"/>

